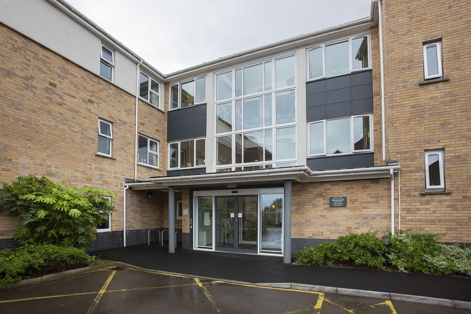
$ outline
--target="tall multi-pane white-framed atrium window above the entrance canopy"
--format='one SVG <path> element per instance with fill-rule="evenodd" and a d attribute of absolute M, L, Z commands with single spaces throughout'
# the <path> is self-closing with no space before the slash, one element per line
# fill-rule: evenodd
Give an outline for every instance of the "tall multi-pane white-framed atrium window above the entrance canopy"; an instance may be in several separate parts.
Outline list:
<path fill-rule="evenodd" d="M 216 74 L 216 171 L 296 165 L 294 56 Z"/>

